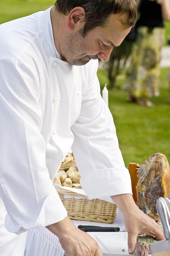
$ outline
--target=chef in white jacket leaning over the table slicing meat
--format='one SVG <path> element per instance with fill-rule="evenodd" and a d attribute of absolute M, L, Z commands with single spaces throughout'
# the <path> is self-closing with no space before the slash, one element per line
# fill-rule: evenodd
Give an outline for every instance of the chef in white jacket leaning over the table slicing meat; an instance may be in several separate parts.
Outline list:
<path fill-rule="evenodd" d="M 102 255 L 52 186 L 71 147 L 88 197 L 111 196 L 123 212 L 129 253 L 139 233 L 164 238 L 133 201 L 96 75 L 97 59 L 107 61 L 135 21 L 134 0 L 58 0 L 0 26 L 1 255 L 23 256 L 17 242 L 36 227 L 58 236 L 69 256 Z"/>

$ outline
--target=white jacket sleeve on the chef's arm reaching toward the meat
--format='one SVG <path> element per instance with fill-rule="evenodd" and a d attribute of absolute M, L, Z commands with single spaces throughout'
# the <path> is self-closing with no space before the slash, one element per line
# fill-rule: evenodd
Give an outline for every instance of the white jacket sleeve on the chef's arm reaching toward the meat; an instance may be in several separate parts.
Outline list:
<path fill-rule="evenodd" d="M 91 82 L 82 97 L 79 118 L 72 126 L 72 150 L 81 185 L 90 199 L 132 194 L 113 118 L 100 94 L 97 67 L 90 69 Z"/>

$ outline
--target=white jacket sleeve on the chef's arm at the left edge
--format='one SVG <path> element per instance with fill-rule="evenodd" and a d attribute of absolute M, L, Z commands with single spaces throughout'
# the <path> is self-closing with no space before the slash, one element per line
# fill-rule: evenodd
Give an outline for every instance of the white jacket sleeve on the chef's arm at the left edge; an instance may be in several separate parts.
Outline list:
<path fill-rule="evenodd" d="M 5 227 L 16 234 L 67 215 L 45 163 L 38 73 L 18 60 L 0 60 L 0 194 Z"/>

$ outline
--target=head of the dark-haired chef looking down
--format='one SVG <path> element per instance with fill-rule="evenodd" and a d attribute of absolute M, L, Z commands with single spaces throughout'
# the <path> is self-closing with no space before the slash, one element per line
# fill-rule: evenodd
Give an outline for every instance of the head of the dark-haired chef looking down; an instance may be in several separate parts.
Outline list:
<path fill-rule="evenodd" d="M 135 0 L 57 0 L 55 6 L 60 27 L 57 49 L 72 65 L 97 58 L 107 61 L 137 19 Z"/>

